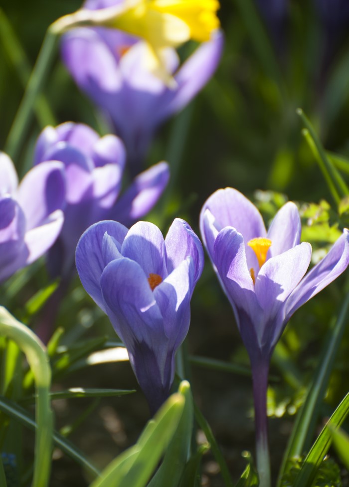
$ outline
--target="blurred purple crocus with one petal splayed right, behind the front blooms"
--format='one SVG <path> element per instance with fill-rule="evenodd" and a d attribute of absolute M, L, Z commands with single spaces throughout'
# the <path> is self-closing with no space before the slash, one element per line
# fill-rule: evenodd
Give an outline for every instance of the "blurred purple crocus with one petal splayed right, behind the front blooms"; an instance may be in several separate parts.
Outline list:
<path fill-rule="evenodd" d="M 133 223 L 162 194 L 169 179 L 166 162 L 139 174 L 118 199 L 125 158 L 125 148 L 118 137 L 100 138 L 86 125 L 68 122 L 56 128 L 46 127 L 39 136 L 34 164 L 39 167 L 44 161 L 60 161 L 66 181 L 64 225 L 49 253 L 52 275 L 68 276 L 74 269 L 77 242 L 92 223 L 104 219 Z"/>

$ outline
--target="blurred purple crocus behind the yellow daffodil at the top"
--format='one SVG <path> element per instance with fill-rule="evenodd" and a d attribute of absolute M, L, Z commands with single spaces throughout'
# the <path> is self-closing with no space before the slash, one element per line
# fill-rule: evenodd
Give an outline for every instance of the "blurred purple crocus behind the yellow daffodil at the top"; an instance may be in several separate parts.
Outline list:
<path fill-rule="evenodd" d="M 87 1 L 85 8 L 98 9 L 116 3 L 93 0 Z M 176 82 L 173 89 L 144 67 L 145 43 L 117 30 L 73 29 L 62 37 L 61 52 L 76 83 L 109 116 L 126 145 L 130 170 L 136 174 L 156 129 L 181 110 L 210 79 L 222 46 L 222 34 L 217 31 L 179 69 L 175 50 L 166 50 L 168 70 Z"/>

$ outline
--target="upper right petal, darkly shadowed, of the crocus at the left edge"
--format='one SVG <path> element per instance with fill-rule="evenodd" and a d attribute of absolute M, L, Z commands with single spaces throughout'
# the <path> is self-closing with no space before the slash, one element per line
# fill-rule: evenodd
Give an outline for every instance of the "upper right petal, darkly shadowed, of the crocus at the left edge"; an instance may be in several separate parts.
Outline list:
<path fill-rule="evenodd" d="M 46 222 L 49 215 L 65 205 L 63 164 L 42 162 L 26 173 L 18 186 L 17 200 L 24 211 L 26 229 Z"/>

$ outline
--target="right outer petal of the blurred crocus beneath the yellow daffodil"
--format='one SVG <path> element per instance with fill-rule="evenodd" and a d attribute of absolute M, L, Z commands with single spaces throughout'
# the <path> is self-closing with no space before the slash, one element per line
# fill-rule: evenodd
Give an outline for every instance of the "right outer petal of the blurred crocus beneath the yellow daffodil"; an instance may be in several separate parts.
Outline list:
<path fill-rule="evenodd" d="M 221 31 L 212 40 L 201 44 L 184 62 L 174 79 L 177 83 L 171 101 L 164 103 L 159 118 L 165 119 L 182 110 L 213 76 L 223 51 L 224 37 Z M 170 98 L 170 93 L 168 97 Z"/>

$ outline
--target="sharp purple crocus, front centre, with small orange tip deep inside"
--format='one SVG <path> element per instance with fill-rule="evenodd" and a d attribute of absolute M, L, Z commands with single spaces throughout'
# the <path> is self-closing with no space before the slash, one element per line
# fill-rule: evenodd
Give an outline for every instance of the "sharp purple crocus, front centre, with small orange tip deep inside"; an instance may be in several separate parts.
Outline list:
<path fill-rule="evenodd" d="M 180 219 L 165 240 L 152 223 L 141 221 L 128 230 L 101 221 L 76 248 L 81 283 L 127 347 L 152 413 L 170 393 L 175 351 L 188 331 L 202 266 L 201 242 Z"/>

